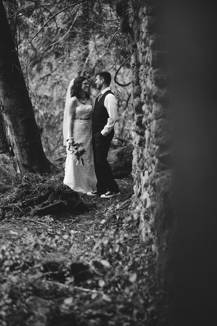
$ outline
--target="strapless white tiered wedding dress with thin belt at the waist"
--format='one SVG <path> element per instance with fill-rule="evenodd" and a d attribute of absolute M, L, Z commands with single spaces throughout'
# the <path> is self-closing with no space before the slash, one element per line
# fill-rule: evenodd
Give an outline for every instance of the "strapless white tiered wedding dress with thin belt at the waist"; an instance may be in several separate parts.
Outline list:
<path fill-rule="evenodd" d="M 92 122 L 90 119 L 92 110 L 92 105 L 80 105 L 75 110 L 75 118 L 78 119 L 74 120 L 73 137 L 75 143 L 83 143 L 82 147 L 86 150 L 86 153 L 82 156 L 84 166 L 80 165 L 80 162 L 76 165 L 76 161 L 72 159 L 72 152 L 68 150 L 68 142 L 66 146 L 67 157 L 63 183 L 71 189 L 83 193 L 96 190 L 97 183 L 93 162 Z"/>

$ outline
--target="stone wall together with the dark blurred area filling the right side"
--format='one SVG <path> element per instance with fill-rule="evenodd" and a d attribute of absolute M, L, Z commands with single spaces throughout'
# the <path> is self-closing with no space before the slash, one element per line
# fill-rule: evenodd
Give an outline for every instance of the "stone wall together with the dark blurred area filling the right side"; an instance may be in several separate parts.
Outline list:
<path fill-rule="evenodd" d="M 142 237 L 148 238 L 151 225 L 158 281 L 173 289 L 176 324 L 213 325 L 217 319 L 214 3 L 132 0 L 129 7 L 135 210 L 140 213 Z"/>

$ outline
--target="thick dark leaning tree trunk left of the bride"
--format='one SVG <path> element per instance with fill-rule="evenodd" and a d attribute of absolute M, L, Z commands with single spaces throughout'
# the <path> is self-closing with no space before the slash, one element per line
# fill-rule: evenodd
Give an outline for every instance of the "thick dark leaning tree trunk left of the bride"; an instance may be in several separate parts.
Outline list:
<path fill-rule="evenodd" d="M 47 160 L 36 125 L 20 62 L 0 0 L 0 100 L 8 137 L 21 174 L 46 172 Z"/>

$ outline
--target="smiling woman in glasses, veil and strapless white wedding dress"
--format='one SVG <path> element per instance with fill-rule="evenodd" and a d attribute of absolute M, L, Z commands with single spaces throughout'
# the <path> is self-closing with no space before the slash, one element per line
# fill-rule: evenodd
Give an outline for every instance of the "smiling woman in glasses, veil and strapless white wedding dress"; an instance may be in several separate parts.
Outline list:
<path fill-rule="evenodd" d="M 91 115 L 94 108 L 93 96 L 88 94 L 88 81 L 76 77 L 68 87 L 63 117 L 63 145 L 66 146 L 65 177 L 63 183 L 75 191 L 87 193 L 96 189 L 93 162 Z M 83 143 L 86 153 L 82 156 L 84 166 L 72 159 L 69 150 L 74 143 Z"/>

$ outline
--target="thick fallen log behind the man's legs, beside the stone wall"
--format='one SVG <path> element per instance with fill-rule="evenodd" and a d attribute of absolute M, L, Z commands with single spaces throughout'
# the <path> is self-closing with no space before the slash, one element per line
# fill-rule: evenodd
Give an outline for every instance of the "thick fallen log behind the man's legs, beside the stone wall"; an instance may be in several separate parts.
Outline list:
<path fill-rule="evenodd" d="M 132 171 L 132 159 L 132 144 L 109 151 L 107 160 L 116 179 L 122 179 L 129 176 Z"/>

